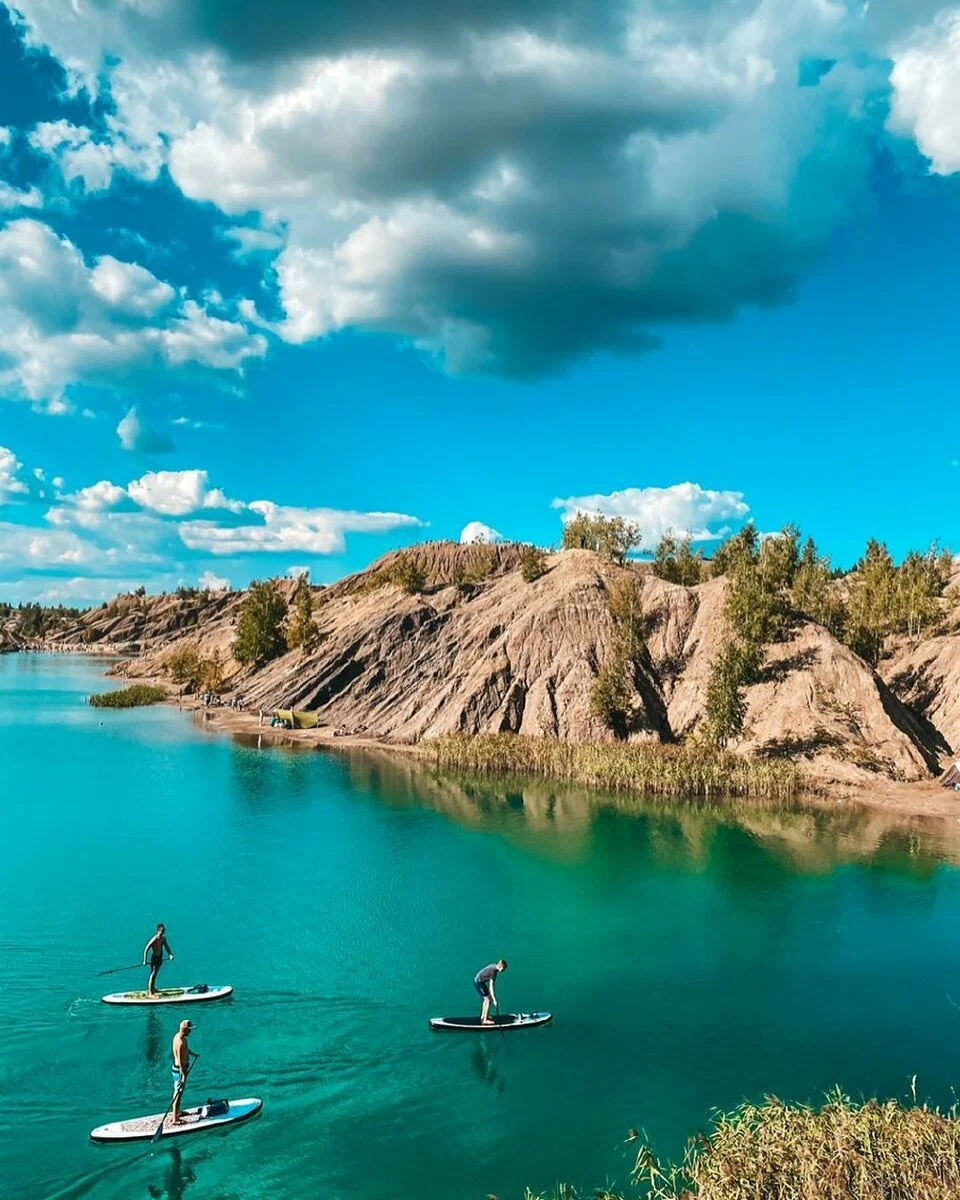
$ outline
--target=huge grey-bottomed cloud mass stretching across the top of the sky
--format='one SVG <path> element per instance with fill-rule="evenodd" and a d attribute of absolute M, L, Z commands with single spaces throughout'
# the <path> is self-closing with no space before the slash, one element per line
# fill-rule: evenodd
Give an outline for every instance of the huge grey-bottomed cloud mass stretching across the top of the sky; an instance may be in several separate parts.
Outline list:
<path fill-rule="evenodd" d="M 65 176 L 162 158 L 259 214 L 228 236 L 278 251 L 281 336 L 390 332 L 452 371 L 533 376 L 787 300 L 869 203 L 888 54 L 899 127 L 953 162 L 954 35 L 908 36 L 932 0 L 18 8 L 109 90 L 106 132 L 36 131 Z"/>

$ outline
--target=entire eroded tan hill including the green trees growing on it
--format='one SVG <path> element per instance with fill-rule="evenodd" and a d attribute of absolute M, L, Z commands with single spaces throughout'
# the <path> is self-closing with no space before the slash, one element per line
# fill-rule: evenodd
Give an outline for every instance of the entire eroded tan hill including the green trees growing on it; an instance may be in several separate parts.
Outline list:
<path fill-rule="evenodd" d="M 746 526 L 709 559 L 668 534 L 638 562 L 636 529 L 595 515 L 564 546 L 425 542 L 326 588 L 132 593 L 44 642 L 133 652 L 127 676 L 407 743 L 653 743 L 856 780 L 926 778 L 960 742 L 960 701 L 944 701 L 960 613 L 936 547 L 898 564 L 870 542 L 839 571 L 793 527 Z"/>

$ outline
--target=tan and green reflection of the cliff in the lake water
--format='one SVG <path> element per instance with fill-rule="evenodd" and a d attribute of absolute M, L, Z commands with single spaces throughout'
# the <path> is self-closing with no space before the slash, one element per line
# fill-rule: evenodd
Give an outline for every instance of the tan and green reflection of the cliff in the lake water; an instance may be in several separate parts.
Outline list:
<path fill-rule="evenodd" d="M 960 864 L 960 821 L 900 817 L 846 803 L 683 804 L 544 779 L 451 775 L 413 756 L 376 750 L 350 750 L 343 758 L 353 782 L 389 804 L 431 808 L 554 858 L 576 859 L 602 830 L 618 841 L 641 840 L 665 866 L 696 870 L 722 854 L 718 834 L 724 832 L 726 841 L 736 828 L 757 848 L 804 872 L 869 863 L 924 878 L 943 862 Z M 614 833 L 607 823 L 617 816 L 628 820 L 618 822 Z"/>

